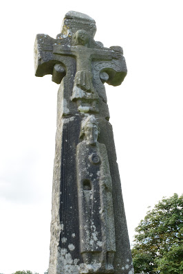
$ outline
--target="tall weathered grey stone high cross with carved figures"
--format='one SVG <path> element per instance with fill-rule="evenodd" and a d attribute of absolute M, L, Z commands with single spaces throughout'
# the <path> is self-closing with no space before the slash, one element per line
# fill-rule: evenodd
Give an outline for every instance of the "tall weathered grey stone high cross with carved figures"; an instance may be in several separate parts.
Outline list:
<path fill-rule="evenodd" d="M 38 34 L 35 74 L 61 84 L 57 100 L 49 274 L 132 274 L 104 83 L 127 75 L 122 47 L 94 41 L 94 19 L 67 12 L 56 39 Z"/>

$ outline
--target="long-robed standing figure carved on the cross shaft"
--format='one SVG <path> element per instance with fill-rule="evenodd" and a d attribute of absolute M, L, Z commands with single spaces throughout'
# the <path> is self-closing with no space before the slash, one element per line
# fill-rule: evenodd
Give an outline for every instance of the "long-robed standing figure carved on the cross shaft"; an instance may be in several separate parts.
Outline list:
<path fill-rule="evenodd" d="M 109 161 L 98 131 L 94 115 L 84 118 L 84 139 L 76 148 L 80 253 L 85 264 L 100 264 L 100 272 L 106 272 L 113 270 L 116 238 Z"/>

